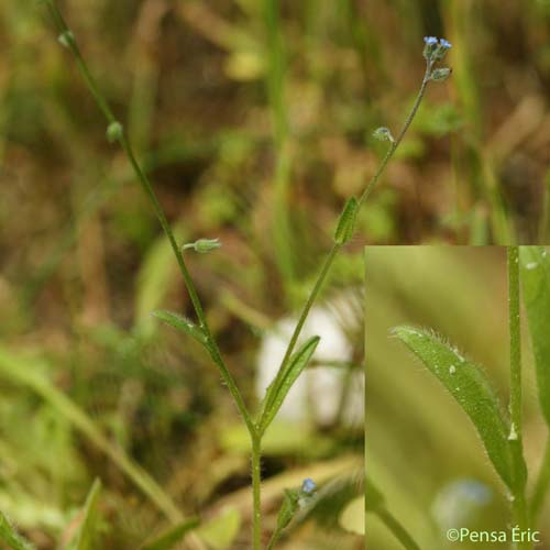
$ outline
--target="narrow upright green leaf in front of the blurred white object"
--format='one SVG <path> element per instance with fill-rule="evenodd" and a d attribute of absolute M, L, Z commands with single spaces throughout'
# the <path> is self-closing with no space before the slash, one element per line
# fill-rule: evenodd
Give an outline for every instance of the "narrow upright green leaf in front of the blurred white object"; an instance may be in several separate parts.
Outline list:
<path fill-rule="evenodd" d="M 301 348 L 290 358 L 286 365 L 283 365 L 284 371 L 277 375 L 272 385 L 267 388 L 265 395 L 265 405 L 260 420 L 260 431 L 264 432 L 270 424 L 275 418 L 278 409 L 282 407 L 286 395 L 298 380 L 304 369 L 309 363 L 311 355 L 315 353 L 320 338 L 312 337 L 307 340 Z"/>

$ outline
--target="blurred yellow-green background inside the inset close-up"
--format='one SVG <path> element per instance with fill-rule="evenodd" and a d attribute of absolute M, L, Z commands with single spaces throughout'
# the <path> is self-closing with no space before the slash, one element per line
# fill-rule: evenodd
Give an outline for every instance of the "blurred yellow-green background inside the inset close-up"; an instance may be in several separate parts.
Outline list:
<path fill-rule="evenodd" d="M 507 403 L 506 250 L 374 246 L 365 257 L 367 474 L 422 549 L 479 548 L 481 543 L 449 543 L 444 532 L 457 527 L 506 530 L 510 516 L 505 487 L 470 419 L 389 331 L 403 323 L 435 330 L 483 365 Z M 524 399 L 532 484 L 547 429 L 527 333 Z M 549 519 L 547 498 L 538 526 L 543 543 L 537 548 L 550 548 Z M 366 532 L 367 548 L 400 548 L 375 516 L 367 516 Z"/>

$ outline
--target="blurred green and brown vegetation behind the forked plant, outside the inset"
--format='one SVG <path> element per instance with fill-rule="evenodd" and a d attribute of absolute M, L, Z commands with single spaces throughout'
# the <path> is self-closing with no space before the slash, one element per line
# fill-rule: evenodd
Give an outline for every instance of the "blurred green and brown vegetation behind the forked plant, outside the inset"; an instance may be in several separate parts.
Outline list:
<path fill-rule="evenodd" d="M 273 6 L 61 2 L 178 239 L 223 242 L 190 267 L 248 403 L 260 339 L 302 304 L 344 199 L 361 193 L 385 152 L 373 130 L 397 133 L 410 108 L 424 35 L 453 43 L 453 76 L 430 86 L 328 294 L 355 294 L 366 242 L 538 242 L 549 233 L 548 1 L 282 1 L 279 16 Z M 229 499 L 238 509 L 230 543 L 246 548 L 248 458 L 239 433 L 230 448 L 220 435 L 232 433 L 234 408 L 201 350 L 150 316 L 156 307 L 190 312 L 187 295 L 54 33 L 40 2 L 0 3 L 0 507 L 52 548 L 101 475 L 105 544 L 132 547 L 162 526 L 98 433 L 81 421 L 75 430 L 80 417 L 61 391 L 111 454 L 123 450 L 185 514 L 216 518 Z M 361 330 L 350 324 L 360 364 Z M 274 495 L 285 475 L 295 483 L 316 464 L 327 477 L 353 476 L 361 433 L 310 426 L 306 435 L 268 450 Z M 358 485 L 334 488 L 338 509 L 317 510 L 330 537 L 300 524 L 292 548 L 360 543 L 327 521 Z M 268 499 L 267 526 L 277 502 Z"/>

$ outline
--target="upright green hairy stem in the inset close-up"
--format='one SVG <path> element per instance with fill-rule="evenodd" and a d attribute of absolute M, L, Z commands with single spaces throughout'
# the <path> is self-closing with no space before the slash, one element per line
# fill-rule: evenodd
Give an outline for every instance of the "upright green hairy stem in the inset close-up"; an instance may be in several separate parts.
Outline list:
<path fill-rule="evenodd" d="M 508 322 L 510 339 L 510 417 L 512 429 L 508 437 L 513 468 L 513 514 L 514 521 L 521 532 L 529 528 L 529 512 L 525 497 L 527 469 L 522 450 L 521 418 L 521 333 L 519 318 L 519 251 L 517 246 L 507 248 L 508 264 Z M 516 548 L 529 549 L 529 542 L 518 542 Z"/>

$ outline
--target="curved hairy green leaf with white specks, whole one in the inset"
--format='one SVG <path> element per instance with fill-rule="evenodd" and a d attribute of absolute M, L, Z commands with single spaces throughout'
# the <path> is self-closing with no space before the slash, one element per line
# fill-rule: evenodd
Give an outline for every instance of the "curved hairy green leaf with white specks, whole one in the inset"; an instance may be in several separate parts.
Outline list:
<path fill-rule="evenodd" d="M 484 371 L 429 332 L 397 327 L 394 334 L 457 399 L 474 424 L 496 472 L 512 487 L 509 424 Z"/>

